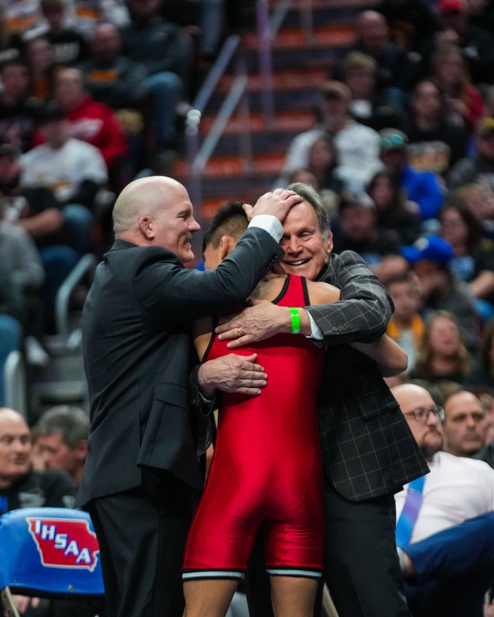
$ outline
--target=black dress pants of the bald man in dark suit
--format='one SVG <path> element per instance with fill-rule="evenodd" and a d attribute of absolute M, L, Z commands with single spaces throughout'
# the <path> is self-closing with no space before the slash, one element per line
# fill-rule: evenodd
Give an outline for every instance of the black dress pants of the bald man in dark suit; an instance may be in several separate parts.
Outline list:
<path fill-rule="evenodd" d="M 182 617 L 182 558 L 196 500 L 167 476 L 88 505 L 108 617 Z"/>

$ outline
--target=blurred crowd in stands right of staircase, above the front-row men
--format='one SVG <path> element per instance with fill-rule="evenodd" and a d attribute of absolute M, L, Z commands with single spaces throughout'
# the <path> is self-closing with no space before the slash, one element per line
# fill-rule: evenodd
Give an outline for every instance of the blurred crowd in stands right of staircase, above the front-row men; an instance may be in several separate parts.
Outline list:
<path fill-rule="evenodd" d="M 358 252 L 387 286 L 389 334 L 409 355 L 401 381 L 493 386 L 493 8 L 382 0 L 361 12 L 277 181 L 320 191 L 334 251 Z"/>

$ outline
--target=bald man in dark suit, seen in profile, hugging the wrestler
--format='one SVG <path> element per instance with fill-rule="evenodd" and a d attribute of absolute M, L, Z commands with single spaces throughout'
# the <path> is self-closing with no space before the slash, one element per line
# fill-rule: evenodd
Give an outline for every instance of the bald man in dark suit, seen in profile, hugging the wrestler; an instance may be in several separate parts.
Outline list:
<path fill-rule="evenodd" d="M 202 486 L 189 326 L 245 300 L 283 253 L 278 218 L 300 201 L 288 191 L 261 197 L 254 213 L 265 216 L 231 259 L 199 272 L 183 267 L 199 225 L 182 184 L 144 178 L 117 199 L 115 243 L 83 310 L 91 431 L 77 496 L 98 536 L 110 617 L 182 615 L 183 547 Z M 258 391 L 265 376 L 254 359 L 227 358 L 220 379 Z"/>

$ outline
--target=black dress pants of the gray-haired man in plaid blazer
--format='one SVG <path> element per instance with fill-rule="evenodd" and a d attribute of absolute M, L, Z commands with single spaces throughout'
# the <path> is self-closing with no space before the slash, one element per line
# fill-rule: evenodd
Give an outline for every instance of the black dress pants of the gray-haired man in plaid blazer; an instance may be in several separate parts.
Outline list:
<path fill-rule="evenodd" d="M 411 617 L 403 593 L 395 526 L 393 495 L 350 502 L 325 482 L 324 579 L 339 617 Z M 246 573 L 251 617 L 272 615 L 261 551 L 256 542 Z M 314 615 L 320 615 L 319 602 Z"/>

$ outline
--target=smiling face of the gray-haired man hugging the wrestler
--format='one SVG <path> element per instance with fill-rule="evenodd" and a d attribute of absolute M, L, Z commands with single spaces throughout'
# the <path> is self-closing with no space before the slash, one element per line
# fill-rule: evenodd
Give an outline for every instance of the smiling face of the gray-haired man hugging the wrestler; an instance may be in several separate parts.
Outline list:
<path fill-rule="evenodd" d="M 285 251 L 275 265 L 277 273 L 305 276 L 314 281 L 332 251 L 332 233 L 324 238 L 316 210 L 309 202 L 295 205 L 283 223 L 280 244 Z"/>

